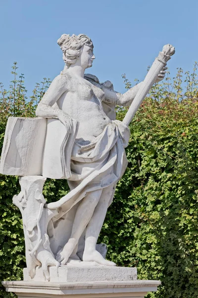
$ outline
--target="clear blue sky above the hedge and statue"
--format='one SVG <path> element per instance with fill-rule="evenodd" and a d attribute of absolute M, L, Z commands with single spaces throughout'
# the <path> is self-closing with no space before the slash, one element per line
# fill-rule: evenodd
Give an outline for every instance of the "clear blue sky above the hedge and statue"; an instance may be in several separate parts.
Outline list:
<path fill-rule="evenodd" d="M 198 0 L 0 0 L 0 82 L 9 85 L 14 61 L 29 94 L 43 77 L 53 79 L 64 66 L 56 43 L 63 33 L 87 34 L 96 56 L 87 73 L 124 92 L 121 74 L 143 80 L 164 44 L 176 48 L 171 76 L 193 69 Z"/>

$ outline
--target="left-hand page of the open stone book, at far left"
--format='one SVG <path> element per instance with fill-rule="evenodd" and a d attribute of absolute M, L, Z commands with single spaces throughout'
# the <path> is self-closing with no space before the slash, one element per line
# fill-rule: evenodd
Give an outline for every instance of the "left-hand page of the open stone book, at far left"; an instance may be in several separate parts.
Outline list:
<path fill-rule="evenodd" d="M 41 175 L 47 119 L 9 117 L 0 159 L 4 175 Z"/>

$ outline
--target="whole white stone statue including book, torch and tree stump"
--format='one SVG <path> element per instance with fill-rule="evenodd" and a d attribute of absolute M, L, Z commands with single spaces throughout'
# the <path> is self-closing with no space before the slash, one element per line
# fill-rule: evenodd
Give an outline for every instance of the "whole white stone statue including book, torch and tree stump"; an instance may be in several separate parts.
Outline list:
<path fill-rule="evenodd" d="M 0 167 L 1 173 L 23 176 L 13 202 L 23 216 L 27 268 L 34 278 L 35 268 L 42 266 L 47 280 L 49 266 L 116 265 L 105 259 L 105 246 L 97 240 L 127 167 L 127 125 L 150 86 L 164 78 L 166 62 L 174 54 L 172 46 L 165 46 L 144 82 L 120 94 L 110 81 L 100 83 L 85 74 L 95 59 L 88 36 L 63 34 L 58 45 L 64 70 L 39 103 L 38 118 L 9 119 Z M 116 120 L 115 106 L 130 106 L 133 100 L 125 121 Z M 66 178 L 70 192 L 46 204 L 46 177 Z"/>

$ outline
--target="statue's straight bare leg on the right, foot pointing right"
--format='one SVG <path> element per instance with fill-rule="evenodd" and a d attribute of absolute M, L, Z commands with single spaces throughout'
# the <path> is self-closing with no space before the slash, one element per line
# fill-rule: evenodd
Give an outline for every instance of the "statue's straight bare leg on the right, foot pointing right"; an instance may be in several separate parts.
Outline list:
<path fill-rule="evenodd" d="M 97 262 L 101 265 L 115 266 L 116 264 L 105 260 L 96 250 L 96 244 L 99 237 L 102 224 L 104 222 L 109 200 L 113 191 L 113 185 L 104 188 L 99 199 L 99 203 L 95 208 L 94 214 L 87 225 L 85 237 L 85 249 L 83 253 L 83 261 Z"/>

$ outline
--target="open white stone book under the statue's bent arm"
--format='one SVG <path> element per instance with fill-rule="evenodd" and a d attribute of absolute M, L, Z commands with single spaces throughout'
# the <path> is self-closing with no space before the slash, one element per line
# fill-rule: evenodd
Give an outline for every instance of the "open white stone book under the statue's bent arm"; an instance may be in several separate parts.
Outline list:
<path fill-rule="evenodd" d="M 77 131 L 76 121 L 73 121 L 73 131 L 68 133 L 58 119 L 9 117 L 0 173 L 68 179 L 71 176 L 71 151 Z"/>

